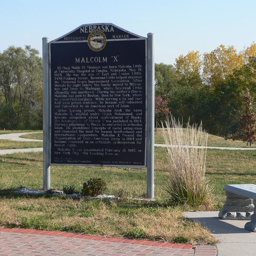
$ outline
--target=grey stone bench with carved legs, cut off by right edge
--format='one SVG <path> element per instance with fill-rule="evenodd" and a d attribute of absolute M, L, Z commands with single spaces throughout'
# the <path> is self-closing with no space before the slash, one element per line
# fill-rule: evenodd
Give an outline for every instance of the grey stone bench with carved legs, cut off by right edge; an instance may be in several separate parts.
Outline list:
<path fill-rule="evenodd" d="M 256 185 L 234 184 L 226 185 L 223 189 L 227 199 L 219 217 L 223 220 L 250 220 L 244 228 L 256 232 Z"/>

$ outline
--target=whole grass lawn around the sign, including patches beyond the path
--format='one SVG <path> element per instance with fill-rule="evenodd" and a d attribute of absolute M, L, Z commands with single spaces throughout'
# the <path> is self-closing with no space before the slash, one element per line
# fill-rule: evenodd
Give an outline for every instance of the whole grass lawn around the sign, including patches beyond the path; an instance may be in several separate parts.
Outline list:
<path fill-rule="evenodd" d="M 35 134 L 31 135 L 34 138 Z M 220 137 L 215 139 L 212 143 L 222 141 Z M 161 135 L 157 132 L 156 143 L 160 141 Z M 0 143 L 5 143 L 6 148 L 21 148 L 23 144 L 9 140 L 0 140 Z M 28 142 L 33 145 L 31 147 L 36 144 L 40 146 L 42 142 Z M 211 201 L 206 206 L 191 209 L 168 206 L 168 196 L 162 189 L 168 181 L 169 171 L 165 150 L 155 147 L 155 202 L 129 199 L 146 196 L 146 168 L 51 166 L 52 189 L 62 190 L 65 184 L 81 189 L 89 178 L 102 178 L 108 186 L 106 194 L 120 196 L 121 199 L 115 202 L 14 194 L 17 188 L 42 190 L 42 152 L 0 156 L 0 226 L 214 244 L 216 240 L 210 232 L 184 218 L 182 212 L 220 210 L 225 202 L 223 187 L 226 184 L 256 184 L 256 152 L 208 149 L 206 178 L 213 188 Z"/>

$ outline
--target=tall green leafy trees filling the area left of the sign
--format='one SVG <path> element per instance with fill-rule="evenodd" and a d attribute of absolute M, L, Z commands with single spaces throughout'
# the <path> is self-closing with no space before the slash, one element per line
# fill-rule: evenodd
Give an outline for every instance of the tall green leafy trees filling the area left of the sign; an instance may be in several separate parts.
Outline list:
<path fill-rule="evenodd" d="M 0 127 L 42 128 L 42 59 L 30 46 L 0 53 Z"/>

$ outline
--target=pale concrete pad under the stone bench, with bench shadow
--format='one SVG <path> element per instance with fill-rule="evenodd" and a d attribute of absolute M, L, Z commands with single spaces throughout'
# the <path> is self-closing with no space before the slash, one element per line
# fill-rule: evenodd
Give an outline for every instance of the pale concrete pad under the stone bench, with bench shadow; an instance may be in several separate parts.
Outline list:
<path fill-rule="evenodd" d="M 244 229 L 248 220 L 222 220 L 219 212 L 184 212 L 184 216 L 202 223 L 221 242 L 218 256 L 255 256 L 256 233 Z"/>

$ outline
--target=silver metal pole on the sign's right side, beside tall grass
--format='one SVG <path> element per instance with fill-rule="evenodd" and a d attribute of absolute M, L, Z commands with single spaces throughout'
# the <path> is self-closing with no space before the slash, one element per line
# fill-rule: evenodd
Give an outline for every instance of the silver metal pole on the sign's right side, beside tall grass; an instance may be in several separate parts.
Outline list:
<path fill-rule="evenodd" d="M 147 129 L 147 197 L 154 198 L 154 108 L 155 108 L 155 63 L 154 63 L 155 34 L 148 33 L 147 68 L 148 68 L 148 129 Z"/>

